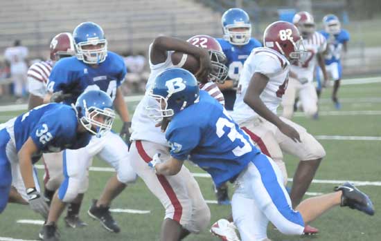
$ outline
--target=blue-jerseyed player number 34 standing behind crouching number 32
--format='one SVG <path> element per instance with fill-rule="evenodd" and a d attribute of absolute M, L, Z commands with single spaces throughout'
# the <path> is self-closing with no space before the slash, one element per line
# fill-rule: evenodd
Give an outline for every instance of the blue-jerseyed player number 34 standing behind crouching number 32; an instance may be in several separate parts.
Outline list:
<path fill-rule="evenodd" d="M 124 123 L 121 135 L 128 136 L 130 117 L 120 89 L 126 73 L 122 57 L 107 51 L 103 29 L 96 23 L 80 23 L 73 31 L 73 39 L 76 56 L 58 61 L 49 76 L 47 88 L 51 93 L 51 100 L 70 105 L 76 102 L 80 93 L 103 90 L 111 97 L 116 112 Z M 120 231 L 109 212 L 109 205 L 125 189 L 127 183 L 136 180 L 136 173 L 130 166 L 127 154 L 127 144 L 112 132 L 102 138 L 92 138 L 85 148 L 64 151 L 64 181 L 53 195 L 48 220 L 44 226 L 44 239 L 51 237 L 48 230 L 55 226 L 65 203 L 72 202 L 78 194 L 87 190 L 89 179 L 86 170 L 95 155 L 112 165 L 116 169 L 116 175 L 107 182 L 100 199 L 93 200 L 88 213 L 91 218 L 100 220 L 108 231 Z M 45 237 L 45 234 L 48 236 Z"/>

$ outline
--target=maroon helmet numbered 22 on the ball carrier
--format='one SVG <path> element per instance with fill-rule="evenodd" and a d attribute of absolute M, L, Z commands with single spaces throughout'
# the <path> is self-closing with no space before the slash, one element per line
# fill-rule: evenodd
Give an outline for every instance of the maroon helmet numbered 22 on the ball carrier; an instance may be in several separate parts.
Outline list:
<path fill-rule="evenodd" d="M 187 41 L 194 46 L 206 48 L 209 51 L 212 63 L 212 70 L 211 73 L 209 73 L 209 80 L 224 83 L 228 73 L 228 68 L 225 66 L 227 57 L 224 52 L 222 52 L 220 43 L 209 35 L 195 35 Z"/>

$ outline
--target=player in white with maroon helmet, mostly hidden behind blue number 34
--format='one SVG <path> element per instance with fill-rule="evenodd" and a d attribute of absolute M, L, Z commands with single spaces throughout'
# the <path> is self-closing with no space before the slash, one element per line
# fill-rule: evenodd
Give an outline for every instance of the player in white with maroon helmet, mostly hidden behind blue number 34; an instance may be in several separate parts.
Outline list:
<path fill-rule="evenodd" d="M 29 110 L 44 103 L 46 83 L 48 82 L 51 69 L 55 65 L 55 62 L 75 54 L 76 50 L 74 49 L 73 36 L 70 32 L 61 32 L 53 37 L 50 44 L 50 59 L 37 62 L 28 69 Z M 64 180 L 61 161 L 62 152 L 44 153 L 42 156 L 45 166 L 44 196 L 50 203 L 55 190 L 60 187 L 62 180 Z M 87 225 L 79 218 L 82 197 L 82 195 L 78 195 L 77 200 L 69 204 L 67 216 L 64 218 L 67 226 L 76 228 Z"/>

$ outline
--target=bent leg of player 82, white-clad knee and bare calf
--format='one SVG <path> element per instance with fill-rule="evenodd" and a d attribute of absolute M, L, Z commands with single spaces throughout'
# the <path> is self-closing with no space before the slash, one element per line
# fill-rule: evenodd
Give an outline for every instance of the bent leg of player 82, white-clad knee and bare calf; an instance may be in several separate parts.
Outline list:
<path fill-rule="evenodd" d="M 298 124 L 281 117 L 283 122 L 295 128 L 301 138 L 301 142 L 294 142 L 290 137 L 287 137 L 281 131 L 276 129 L 276 139 L 281 146 L 281 150 L 299 157 L 299 164 L 294 173 L 291 188 L 292 206 L 299 204 L 304 193 L 308 190 L 314 174 L 319 168 L 319 164 L 326 155 L 323 146 L 315 139 L 305 128 Z"/>

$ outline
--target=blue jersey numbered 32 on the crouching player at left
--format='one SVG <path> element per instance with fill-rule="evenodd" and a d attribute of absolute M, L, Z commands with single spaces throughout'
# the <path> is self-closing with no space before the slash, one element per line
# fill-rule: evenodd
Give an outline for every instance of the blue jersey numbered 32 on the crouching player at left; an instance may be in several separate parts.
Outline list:
<path fill-rule="evenodd" d="M 89 144 L 91 134 L 77 133 L 76 111 L 65 104 L 45 104 L 19 115 L 14 123 L 16 151 L 19 152 L 28 137 L 33 139 L 39 153 L 59 152 L 63 149 L 78 149 Z"/>

